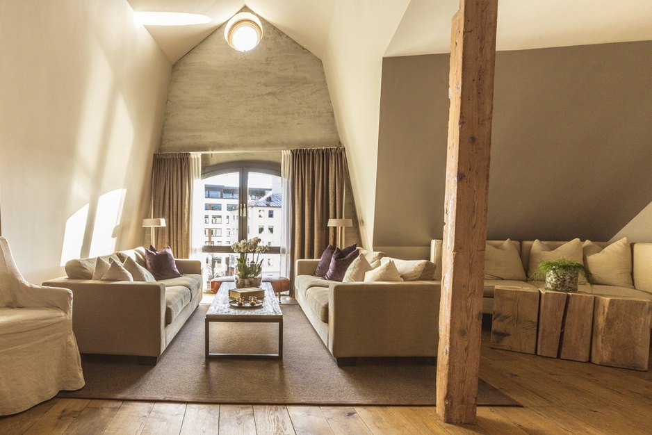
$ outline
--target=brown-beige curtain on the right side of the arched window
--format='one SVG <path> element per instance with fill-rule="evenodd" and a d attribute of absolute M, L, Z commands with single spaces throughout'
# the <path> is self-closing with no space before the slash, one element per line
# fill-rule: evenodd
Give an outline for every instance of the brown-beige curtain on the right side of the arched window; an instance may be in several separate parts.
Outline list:
<path fill-rule="evenodd" d="M 336 231 L 327 223 L 344 217 L 347 179 L 343 148 L 292 150 L 292 265 L 297 258 L 319 258 L 329 243 L 336 244 Z"/>

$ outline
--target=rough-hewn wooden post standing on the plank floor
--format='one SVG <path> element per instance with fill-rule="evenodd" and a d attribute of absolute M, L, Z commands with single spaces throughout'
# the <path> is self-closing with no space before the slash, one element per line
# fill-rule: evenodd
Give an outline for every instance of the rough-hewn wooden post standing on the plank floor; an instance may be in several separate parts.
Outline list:
<path fill-rule="evenodd" d="M 498 0 L 459 0 L 450 49 L 437 413 L 475 422 Z"/>

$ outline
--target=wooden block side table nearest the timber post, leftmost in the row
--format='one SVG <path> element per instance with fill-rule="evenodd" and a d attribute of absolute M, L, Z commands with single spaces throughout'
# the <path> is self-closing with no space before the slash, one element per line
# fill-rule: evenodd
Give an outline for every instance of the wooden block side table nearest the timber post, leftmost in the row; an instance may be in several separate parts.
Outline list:
<path fill-rule="evenodd" d="M 491 347 L 534 354 L 537 348 L 538 317 L 539 290 L 496 286 Z"/>

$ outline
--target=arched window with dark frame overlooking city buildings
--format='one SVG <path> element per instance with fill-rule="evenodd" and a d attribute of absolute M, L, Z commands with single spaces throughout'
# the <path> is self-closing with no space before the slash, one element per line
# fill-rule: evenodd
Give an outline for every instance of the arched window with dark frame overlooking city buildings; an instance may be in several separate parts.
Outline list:
<path fill-rule="evenodd" d="M 259 237 L 270 250 L 261 256 L 263 275 L 281 274 L 284 198 L 280 165 L 263 162 L 222 163 L 202 170 L 206 281 L 232 275 L 236 254 L 231 245 Z M 195 207 L 195 210 L 200 207 Z"/>

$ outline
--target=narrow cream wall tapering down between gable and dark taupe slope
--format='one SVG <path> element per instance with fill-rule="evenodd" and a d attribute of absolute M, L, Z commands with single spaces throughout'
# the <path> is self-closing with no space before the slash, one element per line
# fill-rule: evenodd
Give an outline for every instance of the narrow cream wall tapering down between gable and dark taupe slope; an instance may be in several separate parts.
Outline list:
<path fill-rule="evenodd" d="M 337 0 L 323 57 L 365 247 L 375 243 L 382 56 L 408 3 Z"/>

